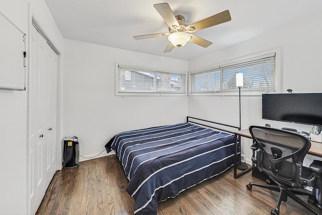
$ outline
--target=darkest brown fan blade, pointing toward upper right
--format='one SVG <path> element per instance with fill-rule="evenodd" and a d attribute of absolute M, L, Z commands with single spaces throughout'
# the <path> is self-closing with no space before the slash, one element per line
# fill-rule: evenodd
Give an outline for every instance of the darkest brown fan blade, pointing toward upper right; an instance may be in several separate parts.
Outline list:
<path fill-rule="evenodd" d="M 199 22 L 193 23 L 186 27 L 186 29 L 194 28 L 194 30 L 189 30 L 189 32 L 196 32 L 205 28 L 209 28 L 211 26 L 219 25 L 221 23 L 225 23 L 231 20 L 230 13 L 228 10 L 223 11 L 219 14 L 208 17 L 204 20 L 200 20 Z"/>

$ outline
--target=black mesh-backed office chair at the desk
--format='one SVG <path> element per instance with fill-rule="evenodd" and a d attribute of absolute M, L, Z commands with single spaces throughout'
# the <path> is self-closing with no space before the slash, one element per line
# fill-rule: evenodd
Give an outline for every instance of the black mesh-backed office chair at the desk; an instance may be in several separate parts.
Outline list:
<path fill-rule="evenodd" d="M 258 186 L 280 192 L 271 214 L 279 214 L 280 205 L 282 201 L 287 201 L 287 197 L 314 214 L 320 214 L 296 196 L 308 196 L 309 203 L 316 203 L 322 208 L 322 162 L 314 160 L 309 168 L 302 166 L 311 146 L 310 140 L 301 134 L 270 127 L 251 126 L 249 129 L 255 141 L 251 147 L 254 151 L 253 166 L 267 174 L 272 184 L 249 183 L 247 189 L 252 190 L 253 186 Z M 302 189 L 306 186 L 313 187 L 313 192 Z"/>

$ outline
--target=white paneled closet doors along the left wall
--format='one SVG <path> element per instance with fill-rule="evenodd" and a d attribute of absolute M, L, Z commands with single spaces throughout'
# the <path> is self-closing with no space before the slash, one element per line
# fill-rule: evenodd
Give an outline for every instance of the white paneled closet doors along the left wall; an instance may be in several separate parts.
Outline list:
<path fill-rule="evenodd" d="M 32 27 L 30 44 L 29 212 L 35 213 L 56 171 L 58 56 Z"/>

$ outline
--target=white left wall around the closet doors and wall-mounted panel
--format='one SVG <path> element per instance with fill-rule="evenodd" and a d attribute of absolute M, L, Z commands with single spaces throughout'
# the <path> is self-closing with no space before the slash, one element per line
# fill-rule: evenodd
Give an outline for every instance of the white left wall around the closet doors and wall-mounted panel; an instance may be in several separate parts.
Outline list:
<path fill-rule="evenodd" d="M 0 11 L 27 34 L 28 41 L 31 25 L 29 3 L 34 13 L 40 11 L 37 19 L 46 26 L 48 35 L 53 33 L 54 43 L 62 49 L 62 36 L 43 0 L 0 1 Z M 27 67 L 27 77 L 28 72 Z M 27 80 L 26 86 L 26 91 L 0 89 L 0 214 L 28 213 Z"/>

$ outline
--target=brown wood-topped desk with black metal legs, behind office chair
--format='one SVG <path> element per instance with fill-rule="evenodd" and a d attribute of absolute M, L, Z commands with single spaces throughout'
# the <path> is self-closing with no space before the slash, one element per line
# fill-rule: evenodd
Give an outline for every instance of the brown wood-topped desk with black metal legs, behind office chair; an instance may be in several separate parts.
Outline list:
<path fill-rule="evenodd" d="M 234 132 L 235 135 L 235 163 L 234 163 L 234 172 L 233 172 L 233 177 L 234 178 L 238 178 L 242 175 L 244 175 L 245 173 L 249 172 L 253 167 L 250 167 L 244 171 L 241 171 L 237 174 L 237 140 L 238 140 L 238 136 L 239 136 L 239 140 L 240 140 L 240 136 L 246 137 L 246 138 L 251 138 L 253 139 L 250 130 L 249 129 L 243 129 L 243 130 L 238 130 L 236 132 Z M 322 143 L 321 142 L 314 142 L 311 141 L 311 148 L 308 150 L 308 154 L 309 155 L 313 155 L 313 156 L 318 156 L 318 157 L 322 157 Z"/>

